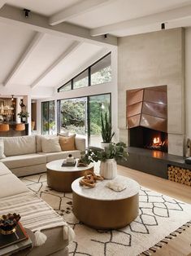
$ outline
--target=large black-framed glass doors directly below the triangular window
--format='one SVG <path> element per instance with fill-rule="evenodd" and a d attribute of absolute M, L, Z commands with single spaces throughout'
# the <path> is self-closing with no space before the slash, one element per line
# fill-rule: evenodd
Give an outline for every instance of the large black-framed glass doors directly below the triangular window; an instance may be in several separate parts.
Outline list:
<path fill-rule="evenodd" d="M 101 113 L 111 115 L 111 94 L 61 99 L 58 106 L 60 132 L 69 130 L 85 138 L 86 146 L 101 147 Z"/>

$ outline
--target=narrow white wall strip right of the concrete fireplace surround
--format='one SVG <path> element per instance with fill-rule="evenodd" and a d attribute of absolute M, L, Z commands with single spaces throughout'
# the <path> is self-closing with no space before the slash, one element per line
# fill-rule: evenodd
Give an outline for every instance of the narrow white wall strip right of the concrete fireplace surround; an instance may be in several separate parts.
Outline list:
<path fill-rule="evenodd" d="M 185 29 L 185 129 L 191 139 L 191 28 Z"/>

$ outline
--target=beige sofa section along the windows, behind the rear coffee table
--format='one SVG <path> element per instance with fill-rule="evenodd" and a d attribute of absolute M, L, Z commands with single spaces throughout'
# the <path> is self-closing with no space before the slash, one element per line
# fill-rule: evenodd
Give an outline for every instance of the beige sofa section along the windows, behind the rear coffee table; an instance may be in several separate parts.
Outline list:
<path fill-rule="evenodd" d="M 56 136 L 56 135 L 55 135 Z M 18 177 L 37 174 L 46 171 L 46 163 L 63 159 L 72 154 L 80 157 L 85 151 L 85 139 L 75 138 L 76 150 L 61 152 L 42 152 L 41 139 L 54 138 L 53 135 L 29 135 L 20 137 L 2 137 L 5 158 L 0 161 Z"/>

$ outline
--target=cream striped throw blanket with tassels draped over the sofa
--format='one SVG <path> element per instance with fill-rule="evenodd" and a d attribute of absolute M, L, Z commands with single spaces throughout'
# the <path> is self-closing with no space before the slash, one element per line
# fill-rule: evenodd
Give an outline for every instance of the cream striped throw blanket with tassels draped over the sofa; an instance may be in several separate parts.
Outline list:
<path fill-rule="evenodd" d="M 38 232 L 38 236 L 41 230 L 63 226 L 63 240 L 70 242 L 74 239 L 72 228 L 50 205 L 32 192 L 0 198 L 0 215 L 8 213 L 20 214 L 22 225 Z"/>

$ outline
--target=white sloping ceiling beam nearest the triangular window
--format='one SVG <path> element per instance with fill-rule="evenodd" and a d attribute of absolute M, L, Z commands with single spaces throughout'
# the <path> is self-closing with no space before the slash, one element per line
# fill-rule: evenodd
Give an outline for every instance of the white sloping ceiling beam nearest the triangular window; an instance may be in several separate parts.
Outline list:
<path fill-rule="evenodd" d="M 31 88 L 37 86 L 37 84 L 44 78 L 48 73 L 50 73 L 57 65 L 59 65 L 63 60 L 66 60 L 68 56 L 72 54 L 73 51 L 76 51 L 76 49 L 81 45 L 81 42 L 73 42 L 71 46 L 67 48 L 67 51 L 64 51 L 62 55 L 59 56 L 57 60 L 54 61 L 53 64 L 50 65 L 49 68 L 46 69 L 44 73 L 41 74 L 40 77 L 37 77 L 37 79 L 33 82 L 31 85 Z"/>

